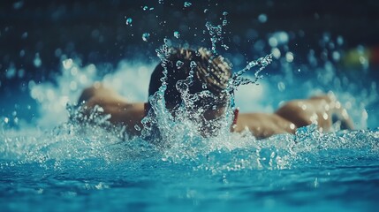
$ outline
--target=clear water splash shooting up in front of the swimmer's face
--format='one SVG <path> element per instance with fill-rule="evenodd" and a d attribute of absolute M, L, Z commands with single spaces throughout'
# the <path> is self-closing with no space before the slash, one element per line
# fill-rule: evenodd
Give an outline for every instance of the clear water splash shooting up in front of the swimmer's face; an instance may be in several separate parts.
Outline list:
<path fill-rule="evenodd" d="M 149 97 L 151 109 L 148 116 L 143 118 L 142 138 L 153 140 L 157 147 L 163 149 L 163 160 L 171 162 L 180 162 L 185 159 L 193 160 L 196 155 L 208 154 L 216 149 L 223 149 L 227 146 L 233 147 L 230 143 L 231 121 L 234 110 L 234 91 L 240 85 L 248 83 L 256 83 L 260 78 L 259 73 L 271 62 L 272 57 L 262 57 L 256 61 L 251 61 L 246 68 L 236 72 L 231 77 L 228 87 L 224 93 L 230 94 L 230 102 L 228 103 L 224 115 L 214 119 L 206 120 L 203 112 L 212 107 L 212 103 L 205 104 L 200 108 L 196 107 L 196 102 L 201 99 L 211 99 L 210 102 L 217 102 L 218 96 L 213 95 L 208 90 L 191 94 L 189 87 L 193 85 L 193 70 L 197 64 L 194 61 L 189 63 L 190 72 L 186 79 L 178 80 L 176 87 L 181 95 L 182 103 L 173 111 L 166 108 L 164 100 L 164 92 L 166 90 L 167 81 L 167 64 L 171 56 L 170 41 L 164 39 L 164 44 L 160 49 L 156 49 L 157 57 L 160 58 L 163 66 L 162 86 L 159 90 Z M 196 53 L 199 53 L 197 51 Z M 177 61 L 178 69 L 183 68 L 183 61 Z M 260 68 L 255 71 L 256 79 L 254 81 L 245 79 L 241 75 L 251 70 L 255 66 Z M 204 85 L 203 85 L 204 87 Z M 172 116 L 175 114 L 175 116 Z M 202 123 L 202 124 L 201 124 Z M 204 127 L 205 128 L 202 128 Z M 212 135 L 204 138 L 205 135 Z M 254 141 L 254 136 L 246 136 L 250 142 Z M 245 145 L 256 145 L 246 141 Z"/>

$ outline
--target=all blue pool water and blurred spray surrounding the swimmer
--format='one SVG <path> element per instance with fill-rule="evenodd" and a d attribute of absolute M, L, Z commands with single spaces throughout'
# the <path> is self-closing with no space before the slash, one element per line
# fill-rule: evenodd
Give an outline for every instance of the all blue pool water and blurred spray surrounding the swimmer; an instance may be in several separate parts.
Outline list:
<path fill-rule="evenodd" d="M 225 17 L 222 26 L 201 23 L 208 28 L 211 50 L 228 49 L 222 34 Z M 356 130 L 321 133 L 310 125 L 295 135 L 266 140 L 250 133 L 204 139 L 195 127 L 178 123 L 167 129 L 171 136 L 163 148 L 128 137 L 122 127 L 72 122 L 66 107 L 95 80 L 131 102 L 146 102 L 158 58 L 150 63 L 122 60 L 105 72 L 101 66 L 81 66 L 76 58 L 64 57 L 53 81 L 27 83 L 29 102 L 19 96 L 18 107 L 33 118 L 22 118 L 20 110 L 0 114 L 1 211 L 376 211 L 376 82 L 364 74 L 341 74 L 337 59 L 317 64 L 312 49 L 306 62 L 296 61 L 286 46 L 289 37 L 277 32 L 252 44 L 254 51 L 262 51 L 260 45 L 268 42 L 267 54 L 280 65 L 262 70 L 257 84 L 239 87 L 240 111 L 273 112 L 285 101 L 333 92 Z M 149 36 L 141 39 L 148 42 Z M 332 42 L 338 43 L 328 37 L 323 44 Z M 338 50 L 333 51 L 339 58 Z M 248 64 L 243 57 L 229 59 L 235 70 Z M 254 72 L 246 77 L 254 80 Z M 2 104 L 13 107 L 3 99 Z"/>

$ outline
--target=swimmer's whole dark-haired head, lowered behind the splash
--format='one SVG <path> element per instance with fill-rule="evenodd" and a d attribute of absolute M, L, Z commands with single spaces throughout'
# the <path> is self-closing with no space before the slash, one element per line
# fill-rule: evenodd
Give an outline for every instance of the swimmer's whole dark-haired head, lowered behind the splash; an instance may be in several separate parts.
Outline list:
<path fill-rule="evenodd" d="M 183 101 L 178 81 L 187 79 L 193 71 L 191 85 L 184 86 L 189 95 L 196 94 L 197 97 L 191 99 L 191 107 L 186 104 L 186 111 L 192 114 L 188 117 L 198 123 L 197 127 L 203 136 L 216 134 L 220 128 L 219 117 L 222 117 L 225 106 L 230 102 L 230 92 L 226 89 L 231 79 L 230 64 L 224 57 L 215 57 L 207 49 L 171 49 L 167 63 L 164 66 L 158 64 L 151 74 L 148 95 L 154 95 L 162 86 L 164 69 L 167 71 L 164 93 L 166 108 L 176 116 L 175 109 Z"/>

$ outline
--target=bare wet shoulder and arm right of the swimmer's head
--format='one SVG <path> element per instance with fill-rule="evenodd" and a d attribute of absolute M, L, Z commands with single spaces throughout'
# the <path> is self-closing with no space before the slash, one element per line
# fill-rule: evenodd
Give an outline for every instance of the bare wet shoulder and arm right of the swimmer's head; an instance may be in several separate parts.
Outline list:
<path fill-rule="evenodd" d="M 352 120 L 341 103 L 333 96 L 322 95 L 286 102 L 272 114 L 240 114 L 235 132 L 248 129 L 257 138 L 267 138 L 279 133 L 295 133 L 299 127 L 311 124 L 318 125 L 322 132 L 329 132 L 333 116 L 345 129 L 353 128 Z"/>

